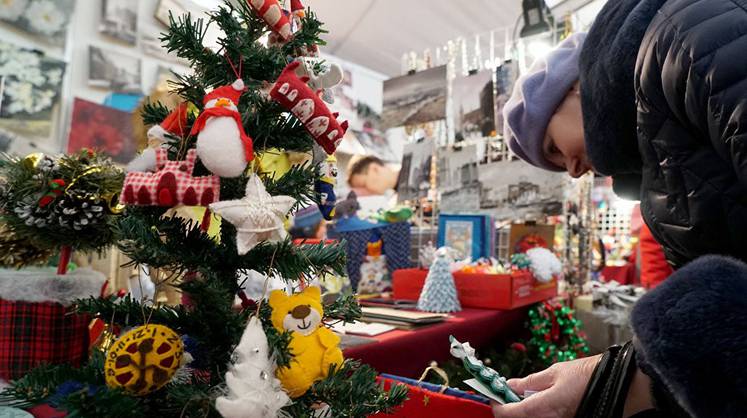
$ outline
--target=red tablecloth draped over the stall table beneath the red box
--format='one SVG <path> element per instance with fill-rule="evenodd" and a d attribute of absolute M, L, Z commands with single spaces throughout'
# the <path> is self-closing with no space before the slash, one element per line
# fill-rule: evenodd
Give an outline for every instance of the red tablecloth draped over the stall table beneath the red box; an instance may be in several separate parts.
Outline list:
<path fill-rule="evenodd" d="M 380 373 L 418 378 L 431 361 L 452 358 L 449 335 L 480 349 L 510 339 L 523 328 L 525 319 L 526 309 L 464 309 L 440 324 L 378 335 L 376 343 L 346 349 L 345 357 L 360 359 Z"/>

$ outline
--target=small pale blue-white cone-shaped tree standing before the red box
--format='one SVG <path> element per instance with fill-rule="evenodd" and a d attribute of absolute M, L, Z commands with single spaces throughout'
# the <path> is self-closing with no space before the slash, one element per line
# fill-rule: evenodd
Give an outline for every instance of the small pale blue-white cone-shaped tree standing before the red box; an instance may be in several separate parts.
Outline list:
<path fill-rule="evenodd" d="M 418 309 L 427 312 L 458 312 L 462 310 L 459 304 L 454 277 L 449 269 L 449 260 L 443 253 L 437 253 L 431 264 L 425 285 L 420 292 Z"/>

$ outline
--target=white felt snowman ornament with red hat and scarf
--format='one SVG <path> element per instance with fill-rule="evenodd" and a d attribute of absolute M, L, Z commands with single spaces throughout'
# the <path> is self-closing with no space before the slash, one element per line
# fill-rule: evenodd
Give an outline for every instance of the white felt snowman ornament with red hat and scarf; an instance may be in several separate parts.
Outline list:
<path fill-rule="evenodd" d="M 205 95 L 205 109 L 192 126 L 197 135 L 197 156 L 220 177 L 238 177 L 254 159 L 252 139 L 244 132 L 238 103 L 244 91 L 239 78 Z"/>

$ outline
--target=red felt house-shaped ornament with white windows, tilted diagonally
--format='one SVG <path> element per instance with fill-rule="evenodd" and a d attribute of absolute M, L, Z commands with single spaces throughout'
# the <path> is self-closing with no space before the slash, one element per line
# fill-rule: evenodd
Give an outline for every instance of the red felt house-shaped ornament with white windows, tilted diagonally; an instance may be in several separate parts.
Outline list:
<path fill-rule="evenodd" d="M 330 112 L 319 95 L 306 84 L 309 77 L 298 77 L 296 69 L 299 65 L 300 62 L 293 61 L 285 67 L 270 90 L 270 96 L 303 123 L 327 154 L 334 154 L 348 129 L 348 121 L 339 123 L 338 114 Z"/>

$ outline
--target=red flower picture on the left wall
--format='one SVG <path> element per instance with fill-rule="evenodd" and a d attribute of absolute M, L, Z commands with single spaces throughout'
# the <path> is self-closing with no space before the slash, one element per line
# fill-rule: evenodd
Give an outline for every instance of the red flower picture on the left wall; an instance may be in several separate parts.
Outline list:
<path fill-rule="evenodd" d="M 127 164 L 137 153 L 132 135 L 132 113 L 76 98 L 67 152 L 91 148 Z"/>

